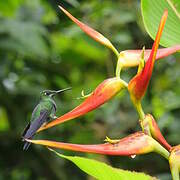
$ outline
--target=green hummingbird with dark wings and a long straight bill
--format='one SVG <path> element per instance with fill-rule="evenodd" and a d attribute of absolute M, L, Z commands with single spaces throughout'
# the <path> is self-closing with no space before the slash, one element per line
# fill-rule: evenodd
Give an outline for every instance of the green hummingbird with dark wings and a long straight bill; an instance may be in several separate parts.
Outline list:
<path fill-rule="evenodd" d="M 23 141 L 25 141 L 25 139 L 32 139 L 42 125 L 46 124 L 50 119 L 57 118 L 55 115 L 57 107 L 53 97 L 69 89 L 71 89 L 71 87 L 58 91 L 44 90 L 40 93 L 40 101 L 34 108 L 31 120 L 23 131 Z M 30 144 L 29 142 L 25 142 L 23 150 L 27 150 Z"/>

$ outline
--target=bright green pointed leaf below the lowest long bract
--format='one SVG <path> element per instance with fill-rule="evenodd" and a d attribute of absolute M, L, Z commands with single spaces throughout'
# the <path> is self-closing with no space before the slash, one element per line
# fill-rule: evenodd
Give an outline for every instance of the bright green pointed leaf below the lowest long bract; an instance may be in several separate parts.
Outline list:
<path fill-rule="evenodd" d="M 48 148 L 49 149 L 49 148 Z M 105 163 L 84 158 L 78 156 L 65 156 L 63 154 L 59 154 L 58 152 L 53 151 L 56 155 L 61 158 L 65 158 L 71 162 L 73 162 L 76 166 L 78 166 L 85 173 L 93 176 L 96 179 L 102 180 L 150 180 L 155 179 L 149 175 L 144 173 L 131 172 L 122 169 L 113 168 Z"/>

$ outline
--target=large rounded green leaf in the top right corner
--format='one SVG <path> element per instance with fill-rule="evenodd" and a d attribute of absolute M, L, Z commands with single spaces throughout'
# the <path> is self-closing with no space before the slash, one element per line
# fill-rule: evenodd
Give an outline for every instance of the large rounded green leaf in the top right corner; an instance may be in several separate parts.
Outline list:
<path fill-rule="evenodd" d="M 158 25 L 165 9 L 168 9 L 168 19 L 160 44 L 168 47 L 180 44 L 180 1 L 141 0 L 144 25 L 153 39 L 155 39 Z"/>

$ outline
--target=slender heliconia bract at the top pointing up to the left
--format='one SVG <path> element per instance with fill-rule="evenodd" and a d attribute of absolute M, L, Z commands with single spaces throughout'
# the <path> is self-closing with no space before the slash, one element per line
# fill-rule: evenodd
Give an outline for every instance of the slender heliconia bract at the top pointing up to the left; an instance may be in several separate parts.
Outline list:
<path fill-rule="evenodd" d="M 76 19 L 74 16 L 72 16 L 68 11 L 66 11 L 63 7 L 59 6 L 59 8 L 74 22 L 76 23 L 88 36 L 93 38 L 95 41 L 107 46 L 110 48 L 117 56 L 119 55 L 116 48 L 112 45 L 112 43 L 104 37 L 102 34 L 97 32 L 96 30 L 92 29 L 88 25 L 82 23 L 78 19 Z"/>

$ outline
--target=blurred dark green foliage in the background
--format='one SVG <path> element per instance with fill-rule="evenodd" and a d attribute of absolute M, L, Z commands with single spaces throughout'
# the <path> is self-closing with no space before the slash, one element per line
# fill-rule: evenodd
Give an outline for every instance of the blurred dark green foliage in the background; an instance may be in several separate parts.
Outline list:
<path fill-rule="evenodd" d="M 76 98 L 82 89 L 89 93 L 114 75 L 114 55 L 65 17 L 58 4 L 103 33 L 119 51 L 152 45 L 137 0 L 0 1 L 0 179 L 89 179 L 73 164 L 43 147 L 32 145 L 28 152 L 22 150 L 21 133 L 41 90 L 73 87 L 71 92 L 56 97 L 57 115 L 62 115 L 81 102 Z M 179 58 L 177 54 L 156 63 L 143 101 L 145 111 L 155 116 L 173 145 L 180 138 Z M 135 72 L 136 69 L 128 69 L 122 76 L 129 81 Z M 106 135 L 120 138 L 139 129 L 138 116 L 124 91 L 98 110 L 36 137 L 95 144 L 103 142 Z M 113 167 L 170 179 L 168 162 L 156 154 L 135 159 L 80 155 L 108 162 Z"/>

